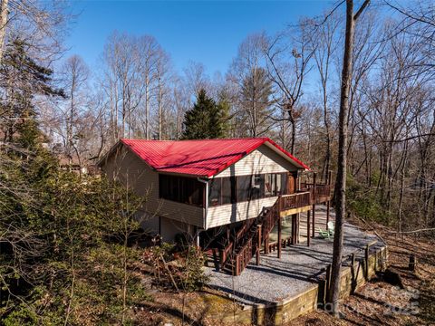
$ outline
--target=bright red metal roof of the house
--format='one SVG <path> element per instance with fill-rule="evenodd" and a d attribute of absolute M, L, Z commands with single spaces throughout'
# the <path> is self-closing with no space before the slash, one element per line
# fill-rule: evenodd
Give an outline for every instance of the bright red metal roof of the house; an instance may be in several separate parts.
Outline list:
<path fill-rule="evenodd" d="M 265 143 L 284 153 L 298 168 L 303 162 L 268 138 L 144 140 L 121 139 L 136 155 L 159 172 L 212 177 Z"/>

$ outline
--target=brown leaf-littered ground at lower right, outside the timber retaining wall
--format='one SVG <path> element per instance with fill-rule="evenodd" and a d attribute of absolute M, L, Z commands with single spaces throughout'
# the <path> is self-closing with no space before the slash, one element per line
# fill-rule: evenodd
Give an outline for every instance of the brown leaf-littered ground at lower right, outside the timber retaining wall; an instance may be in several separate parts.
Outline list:
<path fill-rule="evenodd" d="M 401 275 L 405 289 L 374 278 L 342 302 L 342 318 L 335 320 L 323 311 L 310 312 L 291 325 L 435 325 L 435 239 L 396 236 L 382 225 L 367 227 L 388 245 L 389 267 Z M 417 271 L 408 269 L 410 254 L 417 257 Z"/>

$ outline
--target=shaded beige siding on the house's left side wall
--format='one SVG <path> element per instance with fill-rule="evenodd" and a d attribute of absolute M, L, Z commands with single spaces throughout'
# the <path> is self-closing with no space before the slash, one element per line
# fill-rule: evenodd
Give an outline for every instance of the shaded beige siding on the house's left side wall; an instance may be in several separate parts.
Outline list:
<path fill-rule="evenodd" d="M 137 195 L 146 196 L 143 211 L 150 215 L 164 216 L 179 222 L 202 227 L 204 225 L 204 209 L 159 198 L 159 174 L 138 158 L 129 149 L 121 147 L 111 155 L 103 166 L 108 177 L 114 177 L 130 187 Z M 157 219 L 157 218 L 156 218 Z M 149 226 L 158 225 L 154 220 Z M 155 230 L 159 232 L 159 230 Z"/>

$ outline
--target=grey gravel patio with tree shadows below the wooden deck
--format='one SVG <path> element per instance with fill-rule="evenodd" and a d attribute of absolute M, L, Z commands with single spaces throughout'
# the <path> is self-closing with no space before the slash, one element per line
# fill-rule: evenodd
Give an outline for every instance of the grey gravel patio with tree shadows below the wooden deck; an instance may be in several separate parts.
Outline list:
<path fill-rule="evenodd" d="M 316 237 L 311 239 L 311 245 L 306 245 L 306 216 L 301 214 L 301 242 L 290 245 L 282 250 L 282 257 L 277 253 L 261 254 L 260 264 L 256 265 L 255 257 L 247 265 L 240 276 L 231 276 L 218 272 L 215 268 L 206 267 L 210 276 L 208 285 L 228 295 L 238 302 L 271 303 L 293 297 L 304 292 L 318 282 L 324 273 L 324 268 L 332 262 L 333 241 L 318 237 L 317 229 L 325 228 L 325 207 L 316 207 Z M 331 220 L 334 219 L 333 210 Z M 363 249 L 365 245 L 373 244 L 371 248 L 379 249 L 384 246 L 376 235 L 362 232 L 348 223 L 344 226 L 343 257 Z M 364 252 L 356 253 L 357 259 L 363 257 Z"/>

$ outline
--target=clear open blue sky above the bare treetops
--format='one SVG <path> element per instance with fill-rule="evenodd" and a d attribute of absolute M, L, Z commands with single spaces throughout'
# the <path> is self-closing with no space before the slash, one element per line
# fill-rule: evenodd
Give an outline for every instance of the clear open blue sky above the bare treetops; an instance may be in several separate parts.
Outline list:
<path fill-rule="evenodd" d="M 70 54 L 98 65 L 112 31 L 151 34 L 179 72 L 189 61 L 226 72 L 247 34 L 273 34 L 300 16 L 322 14 L 333 1 L 75 1 L 81 13 L 67 38 Z"/>

